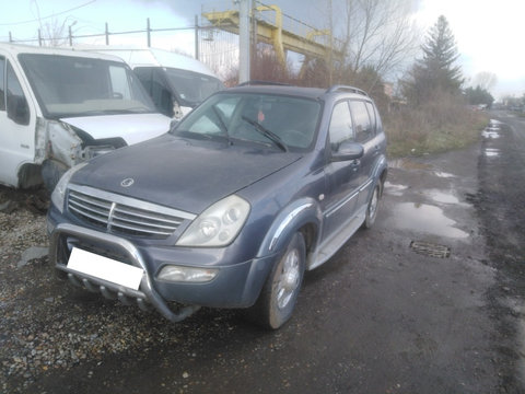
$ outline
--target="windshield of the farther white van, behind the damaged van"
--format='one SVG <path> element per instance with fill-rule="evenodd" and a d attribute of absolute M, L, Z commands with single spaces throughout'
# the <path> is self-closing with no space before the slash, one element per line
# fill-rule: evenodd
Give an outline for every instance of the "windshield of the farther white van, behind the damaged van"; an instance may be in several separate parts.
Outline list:
<path fill-rule="evenodd" d="M 179 99 L 190 106 L 224 89 L 222 82 L 211 76 L 174 68 L 166 68 L 166 73 Z"/>

